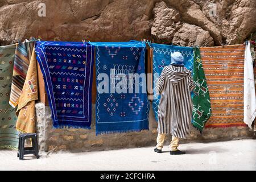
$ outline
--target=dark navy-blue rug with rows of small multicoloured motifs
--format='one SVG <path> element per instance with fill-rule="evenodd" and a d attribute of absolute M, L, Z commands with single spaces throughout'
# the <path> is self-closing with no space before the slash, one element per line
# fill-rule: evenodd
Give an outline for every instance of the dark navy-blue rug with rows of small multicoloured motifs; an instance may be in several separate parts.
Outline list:
<path fill-rule="evenodd" d="M 37 42 L 36 59 L 44 76 L 53 127 L 90 129 L 94 47 L 76 42 Z"/>

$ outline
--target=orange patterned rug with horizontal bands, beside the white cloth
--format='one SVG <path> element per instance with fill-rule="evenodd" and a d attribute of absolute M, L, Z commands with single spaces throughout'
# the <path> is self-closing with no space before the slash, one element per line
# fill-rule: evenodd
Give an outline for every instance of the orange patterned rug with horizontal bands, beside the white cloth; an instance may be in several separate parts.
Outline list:
<path fill-rule="evenodd" d="M 243 122 L 245 44 L 200 48 L 212 115 L 205 127 L 247 126 Z"/>

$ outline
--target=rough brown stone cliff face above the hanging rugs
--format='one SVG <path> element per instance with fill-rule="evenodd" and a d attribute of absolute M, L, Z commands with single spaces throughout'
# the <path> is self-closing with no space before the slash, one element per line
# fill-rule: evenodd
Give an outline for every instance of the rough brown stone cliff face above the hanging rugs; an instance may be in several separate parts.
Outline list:
<path fill-rule="evenodd" d="M 45 15 L 42 13 L 44 3 Z M 255 0 L 0 0 L 0 44 L 154 39 L 182 46 L 242 43 L 256 31 Z M 42 14 L 40 14 L 42 15 Z"/>

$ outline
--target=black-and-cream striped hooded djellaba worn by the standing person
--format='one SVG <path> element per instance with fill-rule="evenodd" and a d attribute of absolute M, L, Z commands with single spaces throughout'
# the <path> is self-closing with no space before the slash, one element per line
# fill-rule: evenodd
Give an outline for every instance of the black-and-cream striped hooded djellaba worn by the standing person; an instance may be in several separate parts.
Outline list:
<path fill-rule="evenodd" d="M 192 119 L 192 73 L 185 67 L 164 67 L 156 90 L 160 94 L 158 133 L 188 138 Z"/>

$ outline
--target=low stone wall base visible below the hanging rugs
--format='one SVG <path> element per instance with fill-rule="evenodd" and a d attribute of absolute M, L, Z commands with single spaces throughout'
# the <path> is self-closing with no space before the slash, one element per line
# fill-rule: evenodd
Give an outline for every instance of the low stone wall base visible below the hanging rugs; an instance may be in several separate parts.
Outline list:
<path fill-rule="evenodd" d="M 133 147 L 154 147 L 157 137 L 157 123 L 154 113 L 150 110 L 150 130 L 143 130 L 139 133 L 121 133 L 98 135 L 95 133 L 95 104 L 92 106 L 92 129 L 53 129 L 51 109 L 42 103 L 36 104 L 36 132 L 39 136 L 39 146 L 41 151 L 102 151 L 116 150 L 120 148 Z M 249 127 L 227 127 L 227 128 L 207 128 L 201 135 L 198 130 L 192 127 L 191 135 L 187 140 L 180 143 L 191 142 L 217 142 L 220 140 L 253 138 L 253 130 Z M 166 139 L 166 144 L 170 142 L 171 136 Z"/>

